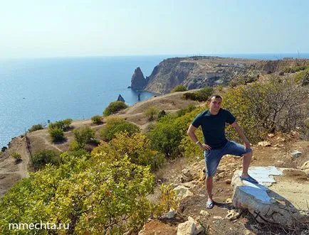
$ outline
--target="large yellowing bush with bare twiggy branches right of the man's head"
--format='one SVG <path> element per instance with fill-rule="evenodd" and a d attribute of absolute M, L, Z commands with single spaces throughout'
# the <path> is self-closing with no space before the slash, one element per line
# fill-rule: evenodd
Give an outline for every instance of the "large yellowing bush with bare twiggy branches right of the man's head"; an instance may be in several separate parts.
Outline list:
<path fill-rule="evenodd" d="M 289 132 L 301 126 L 305 111 L 298 104 L 302 103 L 303 97 L 303 89 L 292 79 L 271 77 L 263 83 L 229 89 L 223 106 L 236 116 L 248 139 L 256 143 L 266 133 Z M 230 138 L 238 138 L 229 127 L 226 133 Z"/>

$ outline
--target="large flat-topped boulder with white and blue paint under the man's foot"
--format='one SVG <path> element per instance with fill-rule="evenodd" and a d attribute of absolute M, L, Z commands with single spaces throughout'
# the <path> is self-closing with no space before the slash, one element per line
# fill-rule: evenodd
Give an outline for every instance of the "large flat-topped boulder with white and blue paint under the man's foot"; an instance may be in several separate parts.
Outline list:
<path fill-rule="evenodd" d="M 251 167 L 249 175 L 258 180 L 253 184 L 240 180 L 240 170 L 232 178 L 233 204 L 247 209 L 262 223 L 293 226 L 309 222 L 309 177 L 301 170 L 276 167 Z M 275 177 L 276 176 L 276 180 Z"/>

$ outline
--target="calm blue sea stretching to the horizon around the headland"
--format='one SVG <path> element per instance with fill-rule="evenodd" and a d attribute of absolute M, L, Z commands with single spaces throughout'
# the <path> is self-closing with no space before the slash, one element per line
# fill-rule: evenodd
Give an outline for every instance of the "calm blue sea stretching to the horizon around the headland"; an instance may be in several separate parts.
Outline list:
<path fill-rule="evenodd" d="M 139 93 L 141 101 L 153 97 L 127 88 L 135 69 L 140 67 L 146 77 L 162 60 L 183 56 L 193 55 L 1 59 L 0 148 L 34 124 L 102 115 L 119 94 L 128 105 L 139 102 Z M 278 60 L 309 58 L 309 53 L 210 56 Z"/>

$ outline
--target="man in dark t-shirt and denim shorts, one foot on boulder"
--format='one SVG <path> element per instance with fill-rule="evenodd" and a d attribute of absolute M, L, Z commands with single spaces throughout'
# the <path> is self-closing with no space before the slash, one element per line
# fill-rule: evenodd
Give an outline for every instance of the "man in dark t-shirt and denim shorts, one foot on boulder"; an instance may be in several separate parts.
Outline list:
<path fill-rule="evenodd" d="M 252 158 L 252 150 L 250 143 L 244 135 L 241 127 L 237 124 L 236 118 L 226 109 L 221 109 L 222 97 L 214 95 L 209 99 L 209 109 L 201 112 L 192 121 L 187 131 L 188 136 L 201 149 L 204 150 L 204 157 L 206 162 L 206 187 L 208 200 L 206 208 L 212 209 L 214 207 L 214 200 L 212 199 L 213 177 L 216 174 L 216 168 L 223 155 L 231 154 L 243 156 L 243 171 L 241 173 L 241 180 L 258 183 L 250 175 L 248 175 L 248 168 Z M 226 122 L 231 124 L 237 131 L 244 142 L 244 146 L 234 141 L 229 141 L 225 136 Z M 201 126 L 204 136 L 204 143 L 199 142 L 194 131 Z"/>

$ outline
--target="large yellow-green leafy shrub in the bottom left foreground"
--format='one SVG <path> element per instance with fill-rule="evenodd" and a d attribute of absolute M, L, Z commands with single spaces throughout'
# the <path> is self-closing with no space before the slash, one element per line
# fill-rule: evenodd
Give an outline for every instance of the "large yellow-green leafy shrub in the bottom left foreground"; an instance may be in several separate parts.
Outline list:
<path fill-rule="evenodd" d="M 62 153 L 58 168 L 46 165 L 16 182 L 0 200 L 1 234 L 48 234 L 8 226 L 40 221 L 70 224 L 58 234 L 138 231 L 152 214 L 147 195 L 153 192 L 154 176 L 149 167 L 130 163 L 127 155 L 111 155 L 120 160 L 107 164 L 105 154 L 103 150 L 87 160 Z"/>

